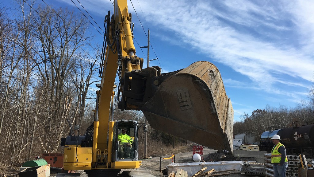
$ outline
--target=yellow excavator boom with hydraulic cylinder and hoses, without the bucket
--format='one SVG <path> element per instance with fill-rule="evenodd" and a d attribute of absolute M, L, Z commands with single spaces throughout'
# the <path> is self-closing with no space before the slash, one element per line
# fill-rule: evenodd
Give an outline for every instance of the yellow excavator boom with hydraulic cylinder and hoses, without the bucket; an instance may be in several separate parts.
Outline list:
<path fill-rule="evenodd" d="M 128 13 L 126 0 L 114 1 L 114 14 L 110 16 L 110 11 L 108 12 L 105 24 L 106 37 L 99 75 L 101 77 L 101 87 L 98 104 L 98 134 L 107 134 L 108 131 L 108 121 L 110 121 L 110 110 L 108 108 L 110 107 L 116 74 L 118 73 L 121 80 L 125 71 L 140 70 L 143 67 L 143 58 L 135 55 L 131 14 Z M 105 139 L 98 140 L 97 146 L 100 150 L 108 147 Z"/>

